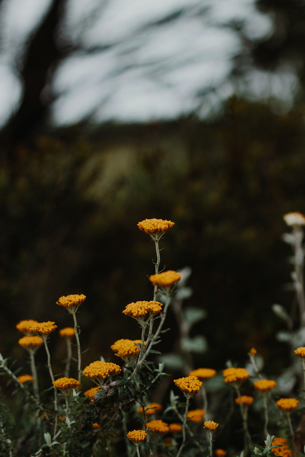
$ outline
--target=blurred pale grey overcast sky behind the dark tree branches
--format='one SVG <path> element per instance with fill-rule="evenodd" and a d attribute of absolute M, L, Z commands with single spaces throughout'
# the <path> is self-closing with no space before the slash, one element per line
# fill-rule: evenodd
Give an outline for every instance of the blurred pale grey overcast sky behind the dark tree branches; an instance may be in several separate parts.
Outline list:
<path fill-rule="evenodd" d="M 50 0 L 4 0 L 0 23 L 0 124 L 20 100 L 22 85 L 14 62 Z M 177 20 L 150 27 L 153 21 L 187 7 Z M 198 14 L 207 7 L 204 14 Z M 245 21 L 251 38 L 271 32 L 268 16 L 253 0 L 69 0 L 64 34 L 84 47 L 115 44 L 98 53 L 75 53 L 54 77 L 58 96 L 52 122 L 67 125 L 91 115 L 96 122 L 173 118 L 198 108 L 198 91 L 213 88 L 200 108 L 202 116 L 235 87 L 228 82 L 231 59 L 241 48 L 237 34 L 224 24 Z M 281 96 L 294 75 L 283 70 L 275 80 L 253 72 L 244 88 Z"/>

